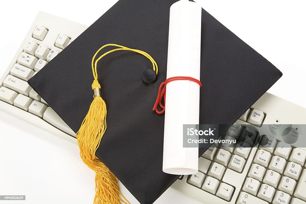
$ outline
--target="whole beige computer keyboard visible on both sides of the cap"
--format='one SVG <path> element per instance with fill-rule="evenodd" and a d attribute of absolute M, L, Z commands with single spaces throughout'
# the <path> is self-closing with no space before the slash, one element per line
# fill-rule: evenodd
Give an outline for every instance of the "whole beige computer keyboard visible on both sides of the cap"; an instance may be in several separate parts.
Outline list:
<path fill-rule="evenodd" d="M 0 78 L 0 109 L 77 143 L 27 81 L 86 28 L 39 12 Z M 305 141 L 287 141 L 277 133 L 289 127 L 284 124 L 297 124 L 290 127 L 305 133 L 299 125 L 306 124 L 305 115 L 305 108 L 265 93 L 226 132 L 224 139 L 241 140 L 237 146 L 211 146 L 199 158 L 199 172 L 181 176 L 171 187 L 206 204 L 306 204 Z"/>

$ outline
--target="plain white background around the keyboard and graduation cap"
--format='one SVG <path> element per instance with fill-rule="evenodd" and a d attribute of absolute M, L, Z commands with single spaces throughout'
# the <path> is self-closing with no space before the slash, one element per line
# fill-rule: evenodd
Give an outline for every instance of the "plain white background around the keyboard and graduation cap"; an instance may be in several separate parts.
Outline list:
<path fill-rule="evenodd" d="M 0 74 L 12 60 L 38 11 L 90 25 L 115 2 L 2 2 Z M 270 93 L 306 107 L 305 1 L 197 2 L 283 72 Z M 26 201 L 0 203 L 92 202 L 94 173 L 81 161 L 77 145 L 3 112 L 0 130 L 0 195 L 26 195 Z M 124 187 L 121 189 L 131 203 L 137 203 Z M 200 203 L 170 188 L 155 203 L 187 202 Z"/>

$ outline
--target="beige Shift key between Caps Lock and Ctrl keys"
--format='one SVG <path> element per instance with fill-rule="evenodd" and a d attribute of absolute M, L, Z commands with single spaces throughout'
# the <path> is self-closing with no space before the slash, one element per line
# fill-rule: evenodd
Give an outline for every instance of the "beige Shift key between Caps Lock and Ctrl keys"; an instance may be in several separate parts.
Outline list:
<path fill-rule="evenodd" d="M 12 75 L 6 76 L 5 80 L 3 81 L 3 86 L 25 96 L 28 96 L 32 89 L 28 82 L 18 79 Z"/>

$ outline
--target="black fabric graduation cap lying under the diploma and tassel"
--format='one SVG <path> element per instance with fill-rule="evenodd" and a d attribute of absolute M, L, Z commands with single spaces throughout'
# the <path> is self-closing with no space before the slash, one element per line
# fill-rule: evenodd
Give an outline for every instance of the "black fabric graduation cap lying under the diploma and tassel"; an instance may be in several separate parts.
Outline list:
<path fill-rule="evenodd" d="M 107 105 L 107 129 L 100 143 L 91 144 L 99 147 L 86 151 L 95 151 L 91 158 L 96 156 L 107 166 L 101 169 L 100 178 L 115 183 L 118 178 L 142 204 L 153 203 L 178 178 L 162 172 L 164 115 L 152 111 L 159 85 L 166 80 L 169 9 L 174 2 L 118 1 L 28 80 L 78 132 L 93 102 L 92 89 L 96 87 L 91 87 L 91 63 L 101 46 L 116 43 L 154 58 L 159 67 L 154 83 L 142 79 L 150 79 L 150 73 L 143 73 L 152 69 L 152 63 L 139 53 L 113 52 L 97 63 L 95 80 Z M 201 35 L 200 124 L 232 124 L 282 73 L 205 10 Z M 99 95 L 99 90 L 95 94 Z M 103 107 L 104 103 L 99 104 Z M 199 155 L 207 148 L 200 148 Z M 112 192 L 119 196 L 115 183 L 111 183 Z"/>

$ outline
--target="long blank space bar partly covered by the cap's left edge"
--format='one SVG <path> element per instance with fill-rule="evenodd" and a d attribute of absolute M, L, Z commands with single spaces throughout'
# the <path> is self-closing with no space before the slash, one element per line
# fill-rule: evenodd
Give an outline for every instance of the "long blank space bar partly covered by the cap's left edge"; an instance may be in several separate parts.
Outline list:
<path fill-rule="evenodd" d="M 62 130 L 63 132 L 69 135 L 72 135 L 72 136 L 76 135 L 76 133 L 73 132 L 71 128 L 69 128 L 69 126 L 62 120 L 61 117 L 58 116 L 57 113 L 55 113 L 55 111 L 51 107 L 48 107 L 46 111 L 43 113 L 43 119 L 47 121 L 48 123 L 50 123 L 51 125 L 53 125 L 54 127 Z M 199 170 L 200 170 L 200 165 L 201 164 L 199 163 Z M 207 166 L 207 169 L 208 169 L 208 166 Z"/>

